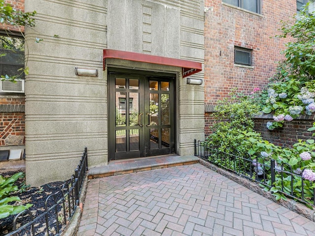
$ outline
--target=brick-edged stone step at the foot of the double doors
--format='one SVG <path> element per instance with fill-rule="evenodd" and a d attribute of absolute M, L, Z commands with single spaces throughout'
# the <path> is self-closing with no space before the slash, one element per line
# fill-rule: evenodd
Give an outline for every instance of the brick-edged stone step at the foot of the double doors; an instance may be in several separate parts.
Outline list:
<path fill-rule="evenodd" d="M 124 175 L 140 171 L 190 165 L 198 162 L 199 158 L 196 156 L 179 156 L 174 154 L 110 161 L 108 165 L 90 168 L 88 178 Z"/>

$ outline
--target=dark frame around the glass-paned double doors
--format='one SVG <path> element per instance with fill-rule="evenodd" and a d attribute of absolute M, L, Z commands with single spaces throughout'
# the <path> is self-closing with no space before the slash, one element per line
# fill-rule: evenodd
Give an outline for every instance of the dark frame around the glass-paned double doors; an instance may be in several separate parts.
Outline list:
<path fill-rule="evenodd" d="M 112 101 L 110 100 L 110 98 L 113 96 L 113 95 L 110 95 L 111 92 L 111 88 L 114 88 L 115 86 L 113 86 L 113 83 L 115 83 L 115 81 L 111 81 L 111 74 L 120 74 L 120 75 L 128 75 L 130 77 L 136 77 L 136 76 L 140 76 L 140 77 L 148 77 L 148 78 L 156 78 L 156 79 L 162 79 L 162 78 L 169 78 L 169 80 L 173 80 L 173 92 L 174 92 L 174 98 L 173 98 L 173 105 L 172 105 L 172 108 L 170 108 L 170 116 L 172 117 L 172 126 L 173 126 L 173 131 L 170 132 L 172 133 L 172 138 L 173 138 L 173 142 L 171 143 L 170 142 L 170 152 L 171 153 L 175 153 L 176 152 L 176 74 L 174 73 L 162 73 L 162 72 L 154 72 L 154 71 L 143 71 L 143 70 L 131 70 L 131 69 L 123 69 L 123 68 L 116 68 L 116 67 L 108 67 L 108 70 L 107 70 L 107 93 L 108 93 L 108 106 L 107 106 L 107 117 L 108 117 L 108 160 L 109 161 L 113 161 L 113 160 L 118 160 L 116 159 L 116 138 L 115 138 L 115 130 L 113 131 L 113 129 L 111 127 L 113 127 L 113 125 L 115 126 L 115 120 L 112 120 L 109 116 L 109 114 L 111 114 L 113 112 L 113 109 L 114 109 L 114 112 L 115 112 L 115 107 L 112 108 L 110 105 L 112 103 Z M 143 82 L 143 84 L 145 84 L 145 82 Z M 139 84 L 140 86 L 140 84 Z M 145 94 L 145 89 L 144 89 L 144 86 L 143 88 L 141 89 L 139 87 L 139 90 L 143 90 L 143 94 Z M 144 104 L 143 104 L 144 105 Z M 144 120 L 147 119 L 146 117 L 144 118 Z M 143 131 L 145 132 L 145 131 Z M 143 137 L 144 137 L 144 133 L 143 133 Z M 171 139 L 170 139 L 171 140 Z M 145 143 L 144 141 L 140 141 L 139 145 L 141 146 L 145 146 Z M 160 150 L 160 149 L 158 149 Z M 154 151 L 152 152 L 153 155 L 150 155 L 150 156 L 154 156 Z M 164 154 L 164 153 L 162 153 Z M 165 153 L 165 154 L 168 154 L 168 153 Z M 160 153 L 157 154 L 157 155 L 161 155 Z M 140 156 L 139 157 L 145 157 L 146 156 L 146 153 L 141 153 L 140 151 Z M 130 156 L 130 157 L 127 157 L 127 158 L 136 158 L 136 157 L 133 157 L 133 156 Z M 127 159 L 126 158 L 126 159 Z M 122 159 L 122 158 L 119 158 L 119 159 Z M 125 158 L 124 158 L 125 159 Z"/>

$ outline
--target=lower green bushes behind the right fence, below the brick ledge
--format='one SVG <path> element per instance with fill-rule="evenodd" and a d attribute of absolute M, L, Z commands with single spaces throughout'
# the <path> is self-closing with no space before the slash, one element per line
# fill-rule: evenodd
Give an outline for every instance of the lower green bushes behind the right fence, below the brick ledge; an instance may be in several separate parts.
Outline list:
<path fill-rule="evenodd" d="M 277 200 L 286 200 L 284 194 L 279 192 L 284 191 L 288 195 L 293 194 L 294 197 L 301 199 L 301 172 L 303 169 L 315 170 L 314 140 L 299 140 L 292 148 L 282 148 L 269 143 L 253 129 L 252 117 L 259 111 L 259 105 L 248 97 L 235 93 L 235 90 L 230 95 L 230 98 L 225 98 L 218 103 L 215 108 L 216 113 L 213 114 L 216 121 L 213 125 L 214 131 L 206 139 L 205 145 L 217 148 L 219 152 L 212 152 L 209 160 L 245 176 L 252 173 L 252 178 L 255 178 L 256 175 L 259 175 L 255 166 L 270 165 L 270 160 L 274 159 L 276 161 L 276 181 L 274 183 L 271 183 L 270 168 L 264 166 L 263 170 L 267 184 L 274 184 L 271 189 L 273 195 Z M 305 155 L 310 159 L 305 159 Z M 252 159 L 256 164 L 252 165 L 250 161 L 244 161 L 237 156 Z M 283 173 L 282 176 L 281 170 L 292 173 L 292 175 Z M 291 185 L 293 193 L 291 193 Z M 310 204 L 314 198 L 314 187 L 315 183 L 304 179 L 303 194 L 305 201 Z"/>

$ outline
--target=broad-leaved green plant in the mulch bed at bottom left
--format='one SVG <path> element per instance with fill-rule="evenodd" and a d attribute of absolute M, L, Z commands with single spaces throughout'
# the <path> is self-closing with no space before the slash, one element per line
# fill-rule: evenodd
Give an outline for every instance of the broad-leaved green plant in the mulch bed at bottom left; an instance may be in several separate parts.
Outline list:
<path fill-rule="evenodd" d="M 18 191 L 18 187 L 14 185 L 14 182 L 22 175 L 22 172 L 8 178 L 0 175 L 0 219 L 17 214 L 32 206 L 31 204 L 26 206 L 12 205 L 12 203 L 20 201 L 19 197 L 11 196 L 11 194 Z"/>

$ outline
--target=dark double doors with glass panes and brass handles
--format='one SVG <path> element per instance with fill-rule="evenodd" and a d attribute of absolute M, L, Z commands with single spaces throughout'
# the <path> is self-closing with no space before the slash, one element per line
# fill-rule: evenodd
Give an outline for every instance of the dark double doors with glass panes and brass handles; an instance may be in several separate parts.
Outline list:
<path fill-rule="evenodd" d="M 174 78 L 110 73 L 110 160 L 174 153 L 174 96 Z"/>

